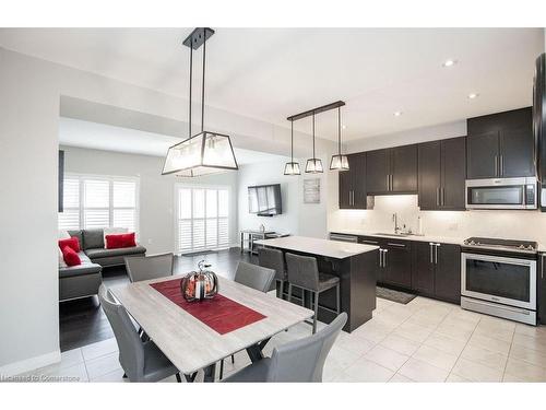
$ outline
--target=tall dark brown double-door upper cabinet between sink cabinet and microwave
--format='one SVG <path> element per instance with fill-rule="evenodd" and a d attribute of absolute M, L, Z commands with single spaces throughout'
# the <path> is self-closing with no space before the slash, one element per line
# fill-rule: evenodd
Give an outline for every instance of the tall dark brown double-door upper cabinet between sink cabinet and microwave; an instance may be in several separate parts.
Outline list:
<path fill-rule="evenodd" d="M 422 210 L 464 210 L 466 138 L 418 144 L 418 200 Z"/>

